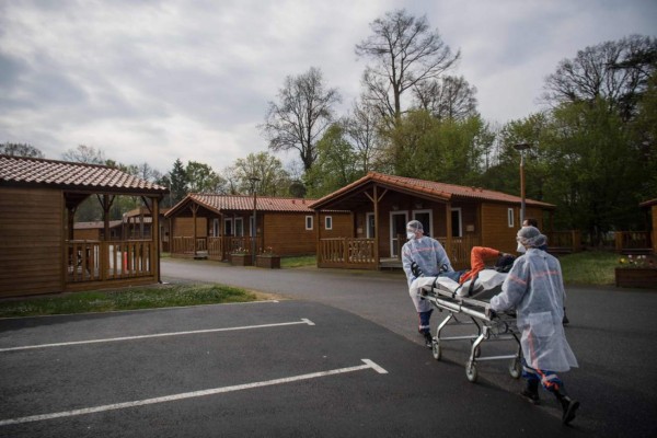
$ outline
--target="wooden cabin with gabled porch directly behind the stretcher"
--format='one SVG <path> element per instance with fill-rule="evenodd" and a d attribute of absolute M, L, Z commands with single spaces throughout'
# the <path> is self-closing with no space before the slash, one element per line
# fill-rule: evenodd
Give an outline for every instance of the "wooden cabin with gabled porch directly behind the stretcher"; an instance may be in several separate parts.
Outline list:
<path fill-rule="evenodd" d="M 400 267 L 406 223 L 419 220 L 425 234 L 446 247 L 454 268 L 468 268 L 476 245 L 515 253 L 521 198 L 465 187 L 370 172 L 312 203 L 316 210 L 351 212 L 354 221 L 339 238 L 318 237 L 318 266 L 380 269 Z M 526 217 L 543 228 L 554 206 L 526 199 Z"/>

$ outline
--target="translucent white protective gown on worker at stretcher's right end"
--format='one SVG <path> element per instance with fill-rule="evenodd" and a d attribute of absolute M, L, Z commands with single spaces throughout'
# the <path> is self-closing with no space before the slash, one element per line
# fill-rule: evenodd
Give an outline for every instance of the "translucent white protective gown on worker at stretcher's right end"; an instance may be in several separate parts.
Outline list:
<path fill-rule="evenodd" d="M 558 261 L 530 247 L 514 263 L 502 292 L 491 299 L 494 311 L 516 309 L 522 355 L 531 368 L 568 371 L 578 366 L 562 324 L 563 285 Z"/>

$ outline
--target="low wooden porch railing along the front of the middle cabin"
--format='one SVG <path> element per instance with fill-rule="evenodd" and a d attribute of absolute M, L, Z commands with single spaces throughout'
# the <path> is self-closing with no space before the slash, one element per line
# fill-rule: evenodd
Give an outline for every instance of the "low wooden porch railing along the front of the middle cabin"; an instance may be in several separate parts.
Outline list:
<path fill-rule="evenodd" d="M 174 257 L 209 258 L 224 261 L 233 252 L 251 254 L 255 239 L 256 253 L 262 252 L 262 237 L 208 237 L 194 238 L 193 235 L 178 235 L 172 239 L 171 255 Z"/>

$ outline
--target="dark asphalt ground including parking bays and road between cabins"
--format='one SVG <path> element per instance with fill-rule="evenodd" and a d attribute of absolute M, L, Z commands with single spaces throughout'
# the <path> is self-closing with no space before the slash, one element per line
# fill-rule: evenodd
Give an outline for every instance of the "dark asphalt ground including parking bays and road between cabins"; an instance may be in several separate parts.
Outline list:
<path fill-rule="evenodd" d="M 178 261 L 163 272 L 287 299 L 0 320 L 0 437 L 657 431 L 650 291 L 568 289 L 580 368 L 564 378 L 583 406 L 565 427 L 549 394 L 541 406 L 518 395 L 506 362 L 482 364 L 470 383 L 465 345 L 434 360 L 400 276 Z"/>

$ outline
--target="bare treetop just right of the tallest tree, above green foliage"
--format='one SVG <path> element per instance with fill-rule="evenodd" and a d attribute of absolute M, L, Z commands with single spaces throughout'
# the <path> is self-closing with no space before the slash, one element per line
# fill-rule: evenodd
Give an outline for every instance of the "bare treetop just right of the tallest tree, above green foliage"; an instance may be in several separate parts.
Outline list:
<path fill-rule="evenodd" d="M 463 77 L 447 76 L 413 88 L 414 106 L 440 120 L 462 120 L 476 115 L 476 88 Z"/>

